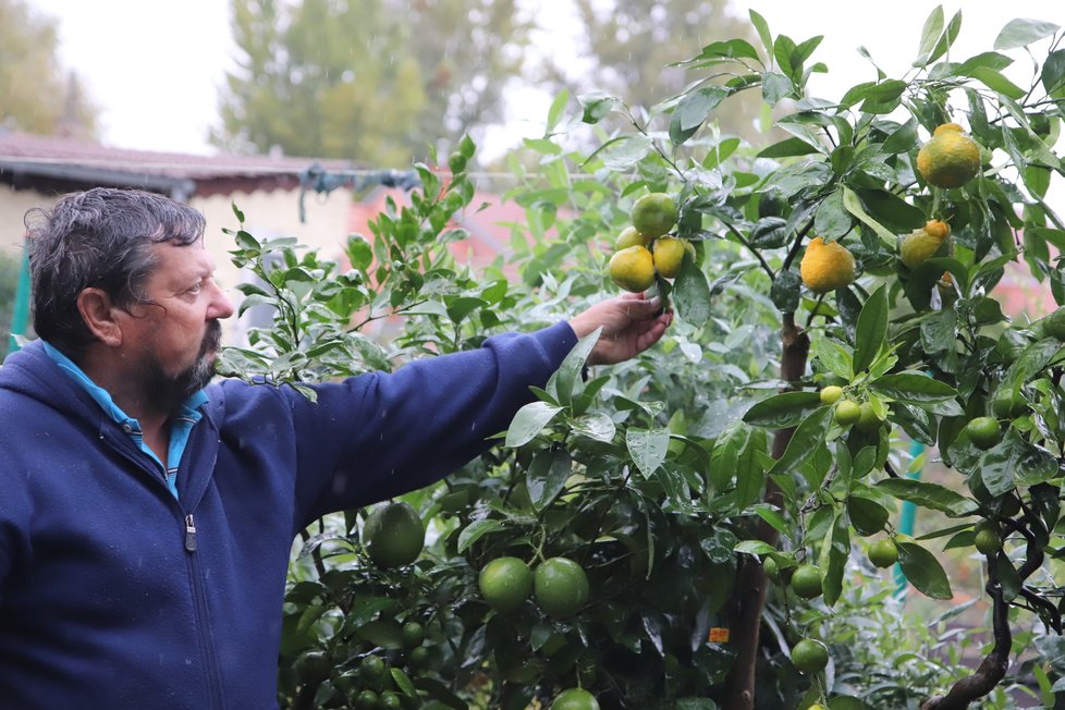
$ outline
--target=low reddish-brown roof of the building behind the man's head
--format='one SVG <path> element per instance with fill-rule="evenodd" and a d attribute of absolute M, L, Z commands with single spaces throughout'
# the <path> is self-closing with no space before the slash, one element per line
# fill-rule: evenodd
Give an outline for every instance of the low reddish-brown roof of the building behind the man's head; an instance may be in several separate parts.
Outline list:
<path fill-rule="evenodd" d="M 348 161 L 314 158 L 130 150 L 77 138 L 0 130 L 0 183 L 16 189 L 59 193 L 110 185 L 188 199 L 293 189 L 311 166 L 332 171 L 354 168 Z"/>

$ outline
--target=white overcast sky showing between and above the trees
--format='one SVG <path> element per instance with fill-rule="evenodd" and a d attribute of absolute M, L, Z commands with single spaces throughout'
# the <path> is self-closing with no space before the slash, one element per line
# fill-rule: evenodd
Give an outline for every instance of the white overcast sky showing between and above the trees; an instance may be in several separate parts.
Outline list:
<path fill-rule="evenodd" d="M 565 0 L 537 4 L 555 25 L 564 24 L 558 22 L 559 11 L 551 7 L 559 2 Z M 796 41 L 824 35 L 813 60 L 828 64 L 830 73 L 817 76 L 811 87 L 831 98 L 838 98 L 843 89 L 858 82 L 876 78 L 857 53 L 859 45 L 869 49 L 890 76 L 901 76 L 916 54 L 925 19 L 938 4 L 893 0 L 859 10 L 860 3 L 854 0 L 734 2 L 744 17 L 754 7 L 774 35 L 784 33 Z M 228 0 L 29 0 L 29 4 L 59 21 L 61 57 L 81 73 L 102 109 L 106 144 L 212 152 L 207 133 L 217 122 L 219 88 L 235 57 Z M 957 59 L 990 50 L 999 30 L 1014 17 L 1065 25 L 1061 0 L 944 4 L 947 17 L 959 9 L 962 34 L 952 50 Z M 1023 53 L 1011 56 L 1030 71 Z M 548 100 L 540 105 L 523 101 L 528 114 L 513 117 L 513 133 L 541 134 Z M 516 142 L 517 135 L 513 137 Z"/>

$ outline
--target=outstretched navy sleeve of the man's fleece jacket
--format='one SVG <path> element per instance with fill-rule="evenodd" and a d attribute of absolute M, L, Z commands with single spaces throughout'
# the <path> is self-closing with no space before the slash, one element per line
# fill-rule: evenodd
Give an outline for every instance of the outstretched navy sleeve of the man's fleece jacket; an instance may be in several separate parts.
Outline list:
<path fill-rule="evenodd" d="M 489 448 L 576 344 L 568 323 L 491 338 L 393 374 L 287 390 L 297 452 L 296 510 L 307 522 L 439 480 Z"/>

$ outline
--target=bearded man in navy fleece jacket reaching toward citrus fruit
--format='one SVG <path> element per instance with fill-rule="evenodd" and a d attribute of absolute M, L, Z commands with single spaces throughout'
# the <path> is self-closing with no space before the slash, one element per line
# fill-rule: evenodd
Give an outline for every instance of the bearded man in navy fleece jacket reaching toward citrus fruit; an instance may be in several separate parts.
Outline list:
<path fill-rule="evenodd" d="M 30 228 L 35 330 L 0 368 L 0 708 L 276 707 L 289 550 L 315 518 L 481 452 L 576 343 L 657 342 L 657 301 L 597 304 L 393 375 L 208 384 L 204 219 L 148 193 L 69 195 Z"/>

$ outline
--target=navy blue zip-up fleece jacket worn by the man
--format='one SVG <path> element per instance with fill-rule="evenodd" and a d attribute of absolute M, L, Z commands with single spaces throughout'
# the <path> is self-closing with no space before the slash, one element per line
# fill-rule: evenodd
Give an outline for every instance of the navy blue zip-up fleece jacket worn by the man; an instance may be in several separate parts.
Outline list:
<path fill-rule="evenodd" d="M 39 343 L 0 368 L 0 708 L 276 707 L 289 550 L 480 453 L 576 343 L 559 323 L 316 387 L 210 385 L 178 475 Z M 193 532 L 195 528 L 195 532 Z"/>

